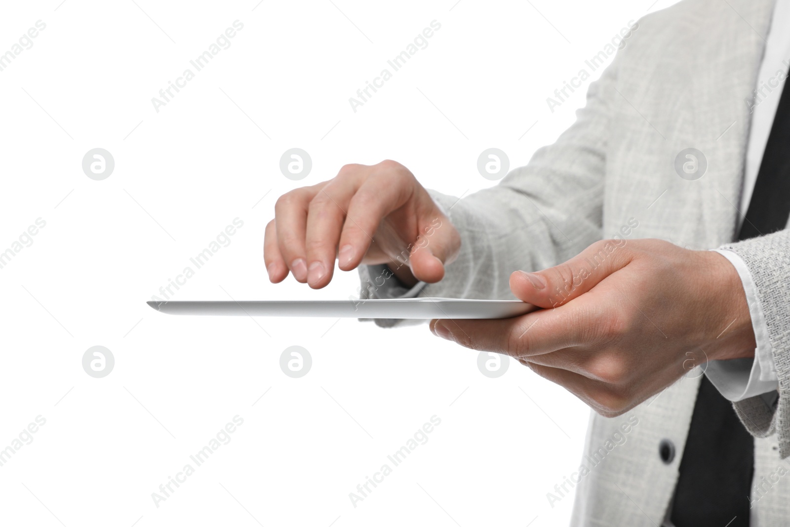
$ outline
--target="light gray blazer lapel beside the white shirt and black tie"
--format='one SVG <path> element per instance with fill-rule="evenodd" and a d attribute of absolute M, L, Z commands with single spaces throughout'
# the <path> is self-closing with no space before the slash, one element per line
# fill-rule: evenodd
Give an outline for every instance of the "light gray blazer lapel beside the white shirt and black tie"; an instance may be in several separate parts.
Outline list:
<path fill-rule="evenodd" d="M 702 22 L 691 62 L 690 137 L 705 153 L 706 174 L 686 188 L 702 208 L 703 245 L 735 239 L 751 126 L 749 103 L 766 48 L 773 1 L 725 0 L 700 4 Z M 712 16 L 708 9 L 723 9 Z"/>

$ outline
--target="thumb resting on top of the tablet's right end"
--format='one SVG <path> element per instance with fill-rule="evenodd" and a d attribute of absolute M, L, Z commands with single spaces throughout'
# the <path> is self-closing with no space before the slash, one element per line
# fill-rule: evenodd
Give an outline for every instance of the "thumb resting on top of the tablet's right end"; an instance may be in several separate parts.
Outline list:
<path fill-rule="evenodd" d="M 625 245 L 624 239 L 606 239 L 543 271 L 515 271 L 510 275 L 510 291 L 518 299 L 538 307 L 562 306 L 623 269 L 632 259 Z"/>

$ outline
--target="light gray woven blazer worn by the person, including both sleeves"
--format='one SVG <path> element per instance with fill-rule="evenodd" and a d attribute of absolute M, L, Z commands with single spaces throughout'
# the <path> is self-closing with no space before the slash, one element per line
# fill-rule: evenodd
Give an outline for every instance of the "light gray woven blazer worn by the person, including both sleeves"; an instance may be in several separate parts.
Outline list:
<path fill-rule="evenodd" d="M 751 117 L 746 101 L 757 82 L 772 9 L 771 0 L 684 0 L 641 19 L 554 145 L 538 150 L 498 186 L 457 203 L 433 194 L 450 210 L 462 246 L 445 279 L 421 293 L 513 298 L 513 270 L 564 262 L 615 235 L 630 218 L 639 223 L 630 238 L 735 250 L 766 313 L 780 386 L 773 405 L 761 397 L 735 404 L 757 438 L 754 484 L 762 490 L 753 498 L 759 498 L 760 527 L 790 524 L 790 460 L 784 460 L 790 455 L 790 232 L 732 241 Z M 675 156 L 687 148 L 708 160 L 702 179 L 687 181 L 675 172 Z M 368 272 L 360 269 L 363 285 Z M 376 295 L 381 290 L 363 287 L 364 298 Z M 661 524 L 698 382 L 683 378 L 625 416 L 592 414 L 580 463 L 590 467 L 588 460 L 604 457 L 600 449 L 605 459 L 577 485 L 573 525 Z M 627 442 L 607 450 L 607 441 L 634 416 L 638 424 Z M 675 448 L 670 463 L 660 458 L 662 440 Z M 778 476 L 779 467 L 788 476 Z"/>

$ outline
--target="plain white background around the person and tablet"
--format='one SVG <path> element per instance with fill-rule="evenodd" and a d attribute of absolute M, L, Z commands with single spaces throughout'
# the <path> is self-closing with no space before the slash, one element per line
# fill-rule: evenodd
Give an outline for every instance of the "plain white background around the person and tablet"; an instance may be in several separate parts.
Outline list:
<path fill-rule="evenodd" d="M 237 217 L 172 298 L 355 295 L 356 273 L 318 292 L 269 284 L 280 194 L 387 158 L 446 194 L 490 186 L 480 152 L 527 163 L 589 81 L 554 112 L 546 98 L 668 2 L 60 2 L 6 2 L 0 17 L 0 53 L 46 24 L 0 71 L 0 251 L 46 221 L 0 269 L 0 449 L 46 419 L 0 466 L 0 523 L 565 525 L 572 498 L 551 507 L 546 493 L 577 469 L 589 411 L 517 363 L 487 378 L 426 326 L 170 317 L 145 301 Z M 231 46 L 156 112 L 152 97 L 236 20 Z M 352 111 L 434 20 L 428 46 Z M 97 147 L 115 158 L 103 181 L 81 168 Z M 313 160 L 301 182 L 280 174 L 292 147 Z M 83 371 L 93 345 L 115 356 L 105 378 Z M 291 345 L 312 356 L 303 378 L 280 371 Z M 236 415 L 231 442 L 157 507 L 152 492 Z M 352 506 L 434 415 L 428 442 Z"/>

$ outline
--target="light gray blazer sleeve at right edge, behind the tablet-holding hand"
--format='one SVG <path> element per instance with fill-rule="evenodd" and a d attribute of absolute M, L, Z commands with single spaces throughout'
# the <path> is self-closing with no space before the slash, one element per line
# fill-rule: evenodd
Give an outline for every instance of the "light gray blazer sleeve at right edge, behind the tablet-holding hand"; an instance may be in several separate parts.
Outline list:
<path fill-rule="evenodd" d="M 779 454 L 790 456 L 790 231 L 776 232 L 722 247 L 746 262 L 757 301 L 766 318 L 773 362 L 779 378 L 777 393 L 735 403 L 743 425 L 764 438 L 777 433 Z"/>

